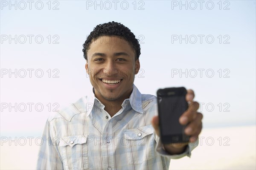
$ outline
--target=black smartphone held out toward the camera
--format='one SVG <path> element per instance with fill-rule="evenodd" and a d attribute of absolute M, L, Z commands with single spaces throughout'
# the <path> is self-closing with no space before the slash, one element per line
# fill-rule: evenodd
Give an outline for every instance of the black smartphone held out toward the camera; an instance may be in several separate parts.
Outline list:
<path fill-rule="evenodd" d="M 188 109 L 186 88 L 164 88 L 157 90 L 160 138 L 163 144 L 188 142 L 184 132 L 186 125 L 180 125 L 180 116 Z"/>

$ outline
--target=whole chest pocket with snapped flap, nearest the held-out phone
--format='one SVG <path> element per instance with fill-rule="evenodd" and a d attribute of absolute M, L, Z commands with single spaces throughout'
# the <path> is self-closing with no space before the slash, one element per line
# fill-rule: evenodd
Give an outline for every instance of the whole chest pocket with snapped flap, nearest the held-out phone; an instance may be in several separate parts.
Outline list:
<path fill-rule="evenodd" d="M 129 164 L 142 164 L 154 158 L 154 129 L 151 125 L 125 130 Z"/>

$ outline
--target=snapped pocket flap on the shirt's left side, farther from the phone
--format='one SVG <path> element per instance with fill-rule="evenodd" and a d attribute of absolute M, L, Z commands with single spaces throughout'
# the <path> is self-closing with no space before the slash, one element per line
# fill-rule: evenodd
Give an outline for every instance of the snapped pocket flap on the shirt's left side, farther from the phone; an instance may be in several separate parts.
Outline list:
<path fill-rule="evenodd" d="M 78 135 L 78 136 L 64 136 L 61 137 L 59 146 L 67 146 L 73 147 L 75 144 L 84 144 L 87 141 L 87 136 Z"/>

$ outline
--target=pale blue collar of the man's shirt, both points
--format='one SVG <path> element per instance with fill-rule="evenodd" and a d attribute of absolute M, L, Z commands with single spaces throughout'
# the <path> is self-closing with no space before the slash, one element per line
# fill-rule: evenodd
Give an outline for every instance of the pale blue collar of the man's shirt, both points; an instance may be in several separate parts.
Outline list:
<path fill-rule="evenodd" d="M 92 112 L 93 110 L 93 107 L 95 105 L 95 102 L 98 102 L 97 101 L 98 99 L 95 97 L 95 94 L 93 93 L 93 90 L 91 91 L 91 94 L 89 96 L 87 96 L 87 116 L 90 115 L 90 113 Z M 127 99 L 125 99 L 122 103 L 122 105 L 125 103 Z M 139 113 L 143 113 L 143 109 L 142 109 L 142 95 L 140 93 L 140 91 L 138 90 L 138 88 L 133 85 L 133 90 L 131 92 L 131 96 L 129 97 L 129 102 L 130 102 L 130 105 L 131 105 L 131 108 L 134 110 L 134 111 L 137 111 Z M 101 103 L 99 101 L 99 103 Z"/>

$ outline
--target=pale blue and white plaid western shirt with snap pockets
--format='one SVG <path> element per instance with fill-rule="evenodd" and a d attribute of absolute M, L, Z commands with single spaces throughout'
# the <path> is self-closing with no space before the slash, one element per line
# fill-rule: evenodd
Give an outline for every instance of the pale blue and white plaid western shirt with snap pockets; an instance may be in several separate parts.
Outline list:
<path fill-rule="evenodd" d="M 148 170 L 169 169 L 170 159 L 190 156 L 197 145 L 169 155 L 154 133 L 157 98 L 134 85 L 113 117 L 94 95 L 85 96 L 49 116 L 37 169 Z"/>

